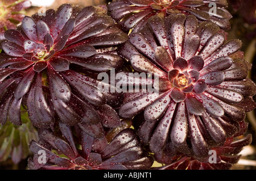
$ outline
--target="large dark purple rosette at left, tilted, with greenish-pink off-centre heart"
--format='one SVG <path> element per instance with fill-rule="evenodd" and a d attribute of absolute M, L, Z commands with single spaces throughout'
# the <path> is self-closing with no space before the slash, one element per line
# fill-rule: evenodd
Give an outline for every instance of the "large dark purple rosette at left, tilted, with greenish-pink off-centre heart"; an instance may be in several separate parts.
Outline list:
<path fill-rule="evenodd" d="M 1 124 L 8 118 L 21 125 L 21 104 L 38 128 L 49 128 L 56 116 L 69 125 L 97 127 L 99 133 L 100 121 L 106 127 L 119 124 L 117 112 L 107 104 L 118 97 L 98 89 L 100 82 L 92 72 L 122 66 L 115 49 L 127 35 L 103 9 L 64 4 L 43 16 L 25 16 L 5 38 L 5 53 L 0 55 Z"/>

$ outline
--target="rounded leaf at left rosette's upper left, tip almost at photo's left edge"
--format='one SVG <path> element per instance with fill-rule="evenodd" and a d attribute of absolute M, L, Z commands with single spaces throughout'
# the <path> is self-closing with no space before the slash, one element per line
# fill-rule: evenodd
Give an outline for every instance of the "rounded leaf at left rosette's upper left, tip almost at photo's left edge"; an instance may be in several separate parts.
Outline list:
<path fill-rule="evenodd" d="M 14 57 L 22 57 L 23 54 L 26 53 L 23 47 L 20 47 L 20 45 L 17 45 L 12 41 L 4 41 L 2 43 L 2 49 L 6 54 Z"/>

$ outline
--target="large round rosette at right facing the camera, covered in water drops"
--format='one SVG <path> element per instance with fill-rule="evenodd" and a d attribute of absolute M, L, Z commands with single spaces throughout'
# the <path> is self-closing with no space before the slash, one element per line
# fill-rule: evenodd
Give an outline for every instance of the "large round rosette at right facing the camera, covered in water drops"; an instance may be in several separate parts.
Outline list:
<path fill-rule="evenodd" d="M 125 118 L 142 112 L 134 121 L 144 120 L 138 133 L 152 152 L 166 147 L 170 153 L 207 157 L 255 108 L 256 86 L 246 78 L 251 65 L 239 52 L 241 41 L 226 41 L 219 31 L 194 15 L 152 16 L 119 48 L 135 71 L 153 75 L 147 84 L 158 90 L 126 93 L 119 109 Z"/>

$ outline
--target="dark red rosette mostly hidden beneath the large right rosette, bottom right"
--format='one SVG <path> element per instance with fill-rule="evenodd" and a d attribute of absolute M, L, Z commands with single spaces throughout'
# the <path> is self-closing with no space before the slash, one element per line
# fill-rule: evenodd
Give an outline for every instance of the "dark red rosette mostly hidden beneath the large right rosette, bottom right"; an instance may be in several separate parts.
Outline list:
<path fill-rule="evenodd" d="M 250 145 L 252 135 L 245 134 L 247 124 L 240 125 L 240 131 L 234 136 L 226 139 L 224 145 L 212 148 L 212 153 L 209 158 L 204 161 L 199 161 L 193 157 L 188 157 L 184 154 L 177 154 L 175 157 L 159 157 L 159 162 L 166 163 L 163 167 L 156 169 L 160 170 L 229 170 L 241 158 L 240 152 L 244 146 Z M 158 157 L 159 155 L 157 155 Z M 163 156 L 163 155 L 162 155 Z M 216 158 L 213 158 L 216 157 Z M 214 160 L 215 159 L 215 160 Z M 215 162 L 215 163 L 214 163 Z"/>

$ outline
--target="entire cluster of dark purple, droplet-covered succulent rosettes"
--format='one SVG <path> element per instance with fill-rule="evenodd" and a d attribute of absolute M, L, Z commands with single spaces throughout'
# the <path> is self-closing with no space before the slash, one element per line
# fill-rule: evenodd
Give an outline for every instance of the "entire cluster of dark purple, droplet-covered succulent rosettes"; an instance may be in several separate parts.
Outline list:
<path fill-rule="evenodd" d="M 212 3 L 216 14 L 209 14 Z M 117 0 L 109 16 L 102 7 L 64 4 L 7 30 L 0 123 L 22 125 L 20 108 L 27 110 L 39 134 L 29 168 L 151 169 L 157 161 L 159 169 L 230 169 L 251 141 L 232 142 L 245 134 L 256 85 L 241 41 L 222 34 L 232 17 L 226 6 Z M 98 75 L 109 70 L 150 74 L 146 85 L 155 91 L 108 91 L 113 80 Z M 134 79 L 116 83 L 142 86 Z M 217 163 L 208 163 L 210 150 Z"/>

